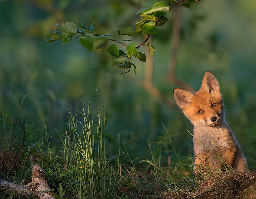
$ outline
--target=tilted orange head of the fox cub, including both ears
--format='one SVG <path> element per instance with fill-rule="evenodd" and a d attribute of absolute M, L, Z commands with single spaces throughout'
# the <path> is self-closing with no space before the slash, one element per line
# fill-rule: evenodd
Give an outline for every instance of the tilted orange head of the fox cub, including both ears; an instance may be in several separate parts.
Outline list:
<path fill-rule="evenodd" d="M 196 126 L 214 126 L 224 121 L 224 104 L 216 77 L 206 71 L 200 90 L 194 94 L 181 88 L 173 90 L 174 98 L 186 117 Z"/>

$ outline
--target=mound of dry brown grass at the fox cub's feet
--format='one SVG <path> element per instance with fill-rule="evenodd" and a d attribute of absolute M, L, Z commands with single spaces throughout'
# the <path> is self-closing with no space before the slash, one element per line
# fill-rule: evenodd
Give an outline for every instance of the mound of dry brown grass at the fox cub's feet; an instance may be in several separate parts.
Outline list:
<path fill-rule="evenodd" d="M 256 172 L 213 171 L 196 178 L 193 188 L 170 191 L 163 198 L 221 198 L 231 199 L 246 186 L 255 181 Z"/>

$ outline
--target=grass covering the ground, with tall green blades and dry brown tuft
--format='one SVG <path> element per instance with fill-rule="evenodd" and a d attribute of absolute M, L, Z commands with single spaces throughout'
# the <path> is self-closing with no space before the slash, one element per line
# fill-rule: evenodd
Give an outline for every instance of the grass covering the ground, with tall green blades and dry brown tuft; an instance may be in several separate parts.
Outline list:
<path fill-rule="evenodd" d="M 101 122 L 99 111 L 94 119 L 89 109 L 81 112 L 72 110 L 68 108 L 65 133 L 58 132 L 58 137 L 52 137 L 45 125 L 45 134 L 40 141 L 26 137 L 25 148 L 12 173 L 9 170 L 21 144 L 20 138 L 12 138 L 18 134 L 20 127 L 2 118 L 1 178 L 15 183 L 23 179 L 30 181 L 30 154 L 37 158 L 58 198 L 232 198 L 239 183 L 251 176 L 247 171 L 224 170 L 204 172 L 203 177 L 196 178 L 192 171 L 192 158 L 177 153 L 164 126 L 175 156 L 173 160 L 168 156 L 167 164 L 162 159 L 161 147 L 152 149 L 152 143 L 148 141 L 151 158 L 135 165 L 129 156 L 131 149 L 121 144 L 120 136 L 116 155 L 108 157 L 105 150 L 105 117 Z M 26 132 L 31 134 L 31 131 L 32 128 L 27 125 Z M 123 156 L 127 156 L 129 164 L 122 162 Z M 12 190 L 1 191 L 0 197 L 19 198 Z"/>

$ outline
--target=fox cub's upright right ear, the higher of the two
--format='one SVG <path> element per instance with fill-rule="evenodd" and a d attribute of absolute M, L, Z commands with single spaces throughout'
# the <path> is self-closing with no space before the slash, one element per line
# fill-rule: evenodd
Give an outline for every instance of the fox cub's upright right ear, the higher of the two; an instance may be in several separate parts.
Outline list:
<path fill-rule="evenodd" d="M 201 89 L 207 93 L 211 93 L 212 91 L 220 91 L 220 85 L 216 77 L 210 71 L 206 71 L 204 73 Z"/>

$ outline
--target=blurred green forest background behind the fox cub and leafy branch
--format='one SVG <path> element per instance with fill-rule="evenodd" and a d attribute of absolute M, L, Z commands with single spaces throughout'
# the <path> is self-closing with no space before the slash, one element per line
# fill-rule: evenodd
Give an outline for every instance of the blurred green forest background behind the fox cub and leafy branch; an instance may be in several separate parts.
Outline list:
<path fill-rule="evenodd" d="M 108 156 L 125 146 L 136 165 L 150 159 L 148 140 L 162 161 L 174 159 L 168 134 L 181 157 L 192 157 L 192 125 L 174 101 L 173 89 L 198 90 L 205 71 L 218 79 L 227 122 L 248 166 L 256 161 L 256 2 L 202 0 L 167 13 L 169 22 L 151 37 L 155 55 L 132 60 L 138 74 L 111 66 L 107 43 L 90 52 L 78 39 L 49 43 L 49 27 L 66 21 L 89 27 L 94 16 L 99 34 L 112 34 L 139 19 L 138 0 L 0 1 L 0 114 L 31 126 L 27 144 L 45 134 L 58 137 L 68 128 L 68 106 L 88 110 L 97 120 L 106 108 Z M 129 36 L 120 39 L 131 39 Z M 141 43 L 143 35 L 132 38 Z M 191 87 L 189 87 L 190 85 Z M 0 121 L 1 123 L 1 121 Z M 165 128 L 168 134 L 165 131 Z M 188 130 L 188 131 L 187 131 Z M 22 134 L 22 132 L 17 132 Z M 21 135 L 19 135 L 21 136 Z M 52 141 L 58 148 L 58 142 Z M 123 156 L 124 162 L 129 162 Z M 191 163 L 190 160 L 185 162 Z"/>

